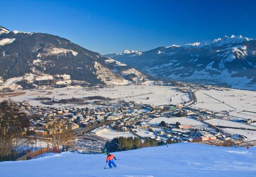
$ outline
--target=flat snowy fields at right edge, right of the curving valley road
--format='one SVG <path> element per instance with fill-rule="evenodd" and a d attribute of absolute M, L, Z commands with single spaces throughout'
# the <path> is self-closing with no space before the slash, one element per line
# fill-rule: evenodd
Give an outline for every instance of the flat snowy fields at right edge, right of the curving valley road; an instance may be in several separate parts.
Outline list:
<path fill-rule="evenodd" d="M 229 91 L 201 90 L 196 92 L 198 103 L 193 107 L 223 112 L 228 111 L 229 118 L 256 120 L 256 92 L 230 89 Z M 206 122 L 213 125 L 234 127 L 223 128 L 230 134 L 247 137 L 246 141 L 256 140 L 256 124 L 245 124 L 224 119 L 211 119 Z M 239 128 L 255 129 L 243 130 Z"/>

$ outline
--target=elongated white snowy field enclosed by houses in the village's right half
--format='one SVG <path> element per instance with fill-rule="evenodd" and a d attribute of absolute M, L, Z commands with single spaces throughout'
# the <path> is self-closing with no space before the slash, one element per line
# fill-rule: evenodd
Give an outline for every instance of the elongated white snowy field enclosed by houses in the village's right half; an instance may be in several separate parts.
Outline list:
<path fill-rule="evenodd" d="M 179 122 L 180 124 L 190 124 L 193 126 L 203 125 L 202 122 L 199 122 L 195 119 L 191 119 L 188 117 L 172 117 L 172 118 L 159 117 L 159 118 L 154 118 L 150 120 L 149 124 L 158 125 L 161 121 L 165 121 L 165 123 L 169 123 L 169 124 L 175 124 L 176 122 Z"/>

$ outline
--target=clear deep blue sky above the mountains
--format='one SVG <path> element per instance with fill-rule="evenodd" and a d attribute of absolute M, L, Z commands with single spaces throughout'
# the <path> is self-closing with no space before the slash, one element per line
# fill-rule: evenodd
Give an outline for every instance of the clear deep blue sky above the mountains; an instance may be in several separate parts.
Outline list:
<path fill-rule="evenodd" d="M 212 40 L 256 38 L 256 1 L 0 2 L 0 25 L 65 37 L 101 54 Z"/>

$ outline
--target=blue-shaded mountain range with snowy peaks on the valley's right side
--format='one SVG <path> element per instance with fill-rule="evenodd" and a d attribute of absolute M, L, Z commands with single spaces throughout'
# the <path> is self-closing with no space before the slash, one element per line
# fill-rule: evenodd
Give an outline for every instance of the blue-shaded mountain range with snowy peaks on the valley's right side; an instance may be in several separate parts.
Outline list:
<path fill-rule="evenodd" d="M 106 56 L 160 78 L 256 90 L 256 40 L 241 35 Z"/>

